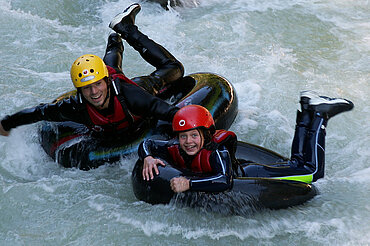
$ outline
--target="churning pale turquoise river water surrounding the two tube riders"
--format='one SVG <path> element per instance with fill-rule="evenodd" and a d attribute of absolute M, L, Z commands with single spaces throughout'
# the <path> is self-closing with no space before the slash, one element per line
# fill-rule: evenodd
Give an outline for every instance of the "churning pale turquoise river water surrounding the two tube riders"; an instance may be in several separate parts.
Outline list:
<path fill-rule="evenodd" d="M 129 1 L 0 0 L 0 117 L 72 89 L 80 55 L 102 56 Z M 0 245 L 369 245 L 370 8 L 348 0 L 199 0 L 165 11 L 141 2 L 140 29 L 186 73 L 215 72 L 239 96 L 239 139 L 290 153 L 302 90 L 345 97 L 330 120 L 320 195 L 278 211 L 206 214 L 135 198 L 135 156 L 84 172 L 41 149 L 37 126 L 0 137 Z M 129 77 L 153 68 L 126 45 Z"/>

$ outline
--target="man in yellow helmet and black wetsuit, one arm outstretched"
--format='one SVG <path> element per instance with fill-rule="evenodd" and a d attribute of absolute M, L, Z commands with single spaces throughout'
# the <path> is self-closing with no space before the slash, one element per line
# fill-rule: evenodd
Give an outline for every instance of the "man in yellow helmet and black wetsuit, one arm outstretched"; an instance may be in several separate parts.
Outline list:
<path fill-rule="evenodd" d="M 0 134 L 8 136 L 12 128 L 37 121 L 72 121 L 83 124 L 98 136 L 125 138 L 135 134 L 146 117 L 172 121 L 178 108 L 155 95 L 166 84 L 184 74 L 182 64 L 165 48 L 141 33 L 135 25 L 139 4 L 118 14 L 109 27 L 104 59 L 83 55 L 72 65 L 71 79 L 77 95 L 57 103 L 40 104 L 5 116 Z M 128 79 L 122 72 L 121 37 L 137 50 L 156 70 L 148 76 Z"/>

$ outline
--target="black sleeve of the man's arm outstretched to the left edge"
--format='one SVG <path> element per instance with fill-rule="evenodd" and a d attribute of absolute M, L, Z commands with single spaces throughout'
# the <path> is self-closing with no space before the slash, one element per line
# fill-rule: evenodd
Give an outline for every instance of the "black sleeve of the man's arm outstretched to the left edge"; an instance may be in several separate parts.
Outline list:
<path fill-rule="evenodd" d="M 58 103 L 40 104 L 33 108 L 24 109 L 13 115 L 5 116 L 1 124 L 6 131 L 9 131 L 12 128 L 42 120 L 83 123 L 83 114 L 78 113 L 81 106 L 76 100 L 71 97 Z"/>

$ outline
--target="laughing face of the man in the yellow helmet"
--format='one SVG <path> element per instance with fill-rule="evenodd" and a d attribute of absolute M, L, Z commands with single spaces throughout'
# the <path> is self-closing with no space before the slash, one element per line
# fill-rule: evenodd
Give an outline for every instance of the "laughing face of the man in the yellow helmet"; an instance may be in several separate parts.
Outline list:
<path fill-rule="evenodd" d="M 81 87 L 81 93 L 84 98 L 93 106 L 99 109 L 104 109 L 108 107 L 109 100 L 105 101 L 108 93 L 108 86 L 104 79 Z"/>

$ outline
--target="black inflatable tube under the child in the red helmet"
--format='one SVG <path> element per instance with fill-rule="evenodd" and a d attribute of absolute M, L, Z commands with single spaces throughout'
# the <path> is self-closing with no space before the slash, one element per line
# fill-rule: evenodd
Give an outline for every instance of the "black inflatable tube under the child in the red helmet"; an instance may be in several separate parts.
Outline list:
<path fill-rule="evenodd" d="M 264 164 L 273 164 L 286 159 L 265 148 L 244 142 L 238 142 L 237 158 L 258 163 L 262 161 Z M 268 177 L 235 177 L 231 190 L 220 193 L 187 191 L 175 196 L 170 189 L 170 180 L 173 177 L 189 177 L 194 174 L 167 164 L 165 167 L 158 167 L 160 174 L 152 181 L 144 181 L 141 174 L 142 165 L 143 163 L 138 160 L 132 172 L 133 190 L 139 200 L 151 204 L 167 204 L 175 201 L 183 206 L 216 210 L 226 214 L 240 214 L 241 211 L 246 211 L 244 206 L 248 206 L 247 211 L 251 208 L 288 208 L 303 204 L 317 194 L 317 189 L 313 185 L 299 181 Z"/>

